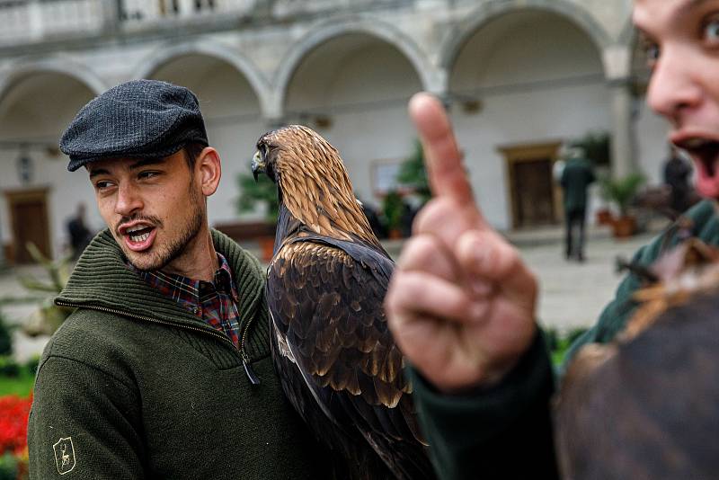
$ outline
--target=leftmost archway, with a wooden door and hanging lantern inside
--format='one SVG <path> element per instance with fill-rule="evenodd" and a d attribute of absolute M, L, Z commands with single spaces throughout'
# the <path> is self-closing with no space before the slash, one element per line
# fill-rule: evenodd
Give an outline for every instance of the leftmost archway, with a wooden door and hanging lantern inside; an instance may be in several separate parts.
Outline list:
<path fill-rule="evenodd" d="M 57 255 L 67 245 L 67 220 L 78 204 L 94 204 L 82 172 L 67 172 L 58 140 L 76 112 L 101 84 L 85 84 L 64 71 L 27 68 L 13 77 L 0 100 L 0 230 L 18 262 L 28 259 L 25 244 Z M 102 227 L 92 209 L 90 225 Z M 18 220 L 20 218 L 20 220 Z"/>

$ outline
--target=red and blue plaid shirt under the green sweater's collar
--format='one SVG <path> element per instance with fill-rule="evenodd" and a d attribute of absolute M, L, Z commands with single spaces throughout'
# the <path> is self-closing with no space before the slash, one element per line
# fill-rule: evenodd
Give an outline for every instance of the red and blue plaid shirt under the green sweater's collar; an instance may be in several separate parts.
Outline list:
<path fill-rule="evenodd" d="M 151 287 L 225 333 L 235 347 L 239 348 L 239 297 L 235 280 L 232 279 L 232 270 L 222 254 L 217 253 L 217 261 L 219 268 L 212 281 L 192 280 L 164 271 L 138 271 L 132 264 L 129 264 L 129 267 Z"/>

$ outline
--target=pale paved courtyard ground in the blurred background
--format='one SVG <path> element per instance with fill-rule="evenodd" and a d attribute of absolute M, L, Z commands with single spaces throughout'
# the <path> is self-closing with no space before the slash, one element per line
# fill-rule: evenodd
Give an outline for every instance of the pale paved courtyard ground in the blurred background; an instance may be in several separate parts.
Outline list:
<path fill-rule="evenodd" d="M 540 281 L 538 318 L 546 326 L 567 330 L 590 326 L 599 317 L 602 307 L 613 297 L 620 280 L 615 271 L 617 255 L 627 259 L 654 234 L 643 234 L 629 240 L 615 240 L 606 228 L 590 230 L 583 263 L 566 262 L 562 250 L 561 228 L 547 228 L 508 234 Z M 386 244 L 396 256 L 402 243 Z M 24 290 L 17 283 L 18 274 L 41 274 L 39 267 L 22 267 L 0 272 L 0 298 L 17 297 Z M 3 307 L 4 316 L 13 324 L 22 324 L 30 315 L 31 306 Z M 47 337 L 30 339 L 20 330 L 13 333 L 15 356 L 19 360 L 40 353 Z"/>

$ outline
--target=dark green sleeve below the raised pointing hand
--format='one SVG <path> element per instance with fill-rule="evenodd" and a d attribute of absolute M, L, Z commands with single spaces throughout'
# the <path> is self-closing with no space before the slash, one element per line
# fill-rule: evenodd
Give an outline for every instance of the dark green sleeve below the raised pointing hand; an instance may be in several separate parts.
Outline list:
<path fill-rule="evenodd" d="M 412 370 L 414 399 L 442 479 L 557 478 L 550 397 L 552 367 L 540 333 L 491 388 L 439 394 Z"/>

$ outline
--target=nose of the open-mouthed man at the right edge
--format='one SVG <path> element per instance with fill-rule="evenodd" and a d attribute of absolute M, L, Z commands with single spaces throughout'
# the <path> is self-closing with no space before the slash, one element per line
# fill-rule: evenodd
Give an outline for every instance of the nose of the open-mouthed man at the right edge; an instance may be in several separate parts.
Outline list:
<path fill-rule="evenodd" d="M 682 118 L 702 100 L 698 82 L 700 73 L 692 67 L 691 53 L 683 49 L 665 49 L 657 61 L 647 92 L 647 103 L 653 111 L 678 126 Z"/>

